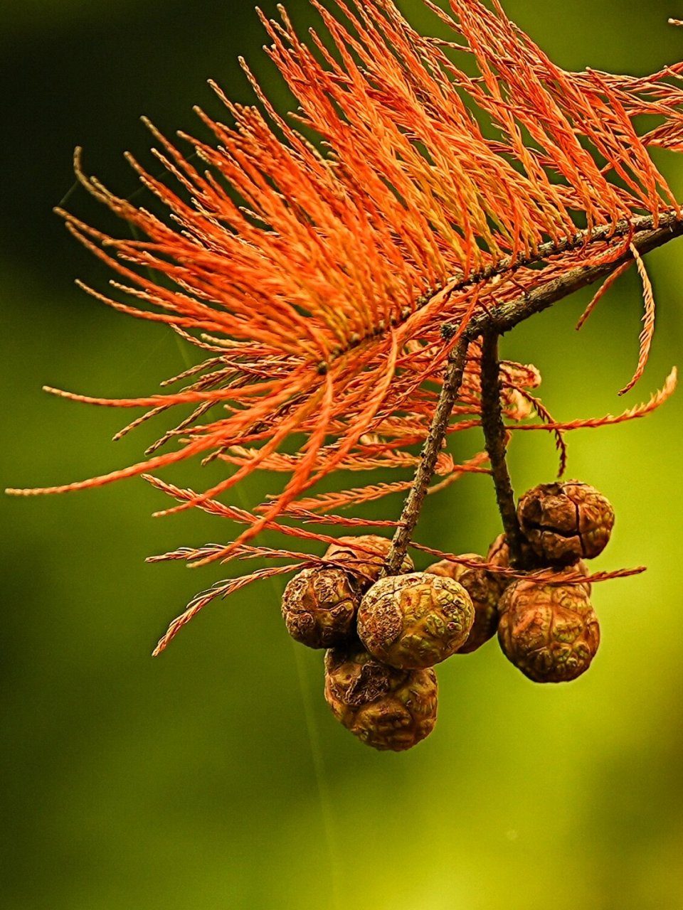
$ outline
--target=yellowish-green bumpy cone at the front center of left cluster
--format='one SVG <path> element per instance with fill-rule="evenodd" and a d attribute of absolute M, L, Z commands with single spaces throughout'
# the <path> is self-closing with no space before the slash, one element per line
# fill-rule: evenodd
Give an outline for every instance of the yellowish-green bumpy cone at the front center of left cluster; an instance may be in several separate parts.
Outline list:
<path fill-rule="evenodd" d="M 462 584 L 411 572 L 372 585 L 358 611 L 358 634 L 371 654 L 393 667 L 431 667 L 454 654 L 474 623 Z"/>

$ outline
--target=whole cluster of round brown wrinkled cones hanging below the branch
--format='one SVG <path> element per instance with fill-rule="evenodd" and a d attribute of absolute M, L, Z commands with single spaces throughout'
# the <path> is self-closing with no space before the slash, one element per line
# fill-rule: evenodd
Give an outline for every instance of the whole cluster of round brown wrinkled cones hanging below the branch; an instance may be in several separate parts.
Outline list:
<path fill-rule="evenodd" d="M 382 577 L 391 541 L 363 535 L 340 538 L 325 553 L 330 565 L 291 579 L 282 598 L 287 629 L 327 649 L 325 698 L 362 742 L 398 752 L 423 740 L 436 722 L 433 666 L 496 632 L 505 656 L 535 682 L 587 670 L 600 632 L 580 576 L 584 560 L 605 548 L 614 511 L 593 487 L 570 480 L 529 490 L 517 517 L 524 571 L 515 571 L 501 535 L 485 559 L 467 553 L 417 572 L 406 556 L 401 574 Z M 552 570 L 547 581 L 544 568 Z"/>

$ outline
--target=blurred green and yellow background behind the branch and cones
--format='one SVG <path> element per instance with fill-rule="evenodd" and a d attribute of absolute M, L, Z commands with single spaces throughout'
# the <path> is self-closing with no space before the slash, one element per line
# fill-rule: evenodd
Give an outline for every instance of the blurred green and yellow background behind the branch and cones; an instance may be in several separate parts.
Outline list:
<path fill-rule="evenodd" d="M 427 21 L 405 0 L 413 23 Z M 265 2 L 274 12 L 274 4 Z M 301 25 L 305 0 L 289 0 Z M 667 25 L 678 2 L 505 0 L 568 68 L 636 74 L 683 57 Z M 433 23 L 430 20 L 430 27 Z M 244 54 L 270 93 L 250 4 L 196 0 L 5 0 L 0 72 L 2 486 L 82 479 L 137 460 L 158 424 L 110 445 L 126 415 L 50 398 L 43 383 L 116 397 L 148 393 L 186 365 L 175 336 L 126 319 L 73 286 L 106 269 L 51 208 L 98 226 L 72 190 L 73 147 L 121 195 L 122 160 L 149 162 L 137 117 L 199 131 L 219 114 L 205 79 L 250 92 Z M 683 169 L 661 159 L 683 198 Z M 515 330 L 505 356 L 533 361 L 558 419 L 617 412 L 681 360 L 681 241 L 647 258 L 658 334 L 645 379 L 617 398 L 637 359 L 637 277 L 627 274 L 581 334 L 589 292 Z M 222 541 L 209 516 L 153 521 L 167 503 L 142 480 L 65 497 L 0 501 L 3 622 L 0 901 L 12 910 L 596 910 L 683 906 L 678 528 L 683 511 L 675 397 L 647 420 L 570 438 L 569 477 L 615 505 L 596 569 L 646 574 L 596 586 L 603 643 L 591 671 L 535 686 L 490 642 L 440 670 L 440 721 L 412 753 L 373 753 L 331 716 L 321 654 L 291 643 L 268 582 L 209 607 L 161 658 L 168 621 L 220 569 L 150 566 L 148 554 Z M 469 440 L 474 445 L 474 440 Z M 518 491 L 551 480 L 553 442 L 518 434 Z M 197 480 L 198 468 L 174 479 Z M 353 480 L 356 480 L 355 478 Z M 259 498 L 269 478 L 250 482 Z M 394 516 L 400 501 L 383 501 Z M 490 481 L 428 501 L 419 539 L 485 551 L 498 533 Z M 418 560 L 422 567 L 423 562 Z"/>

